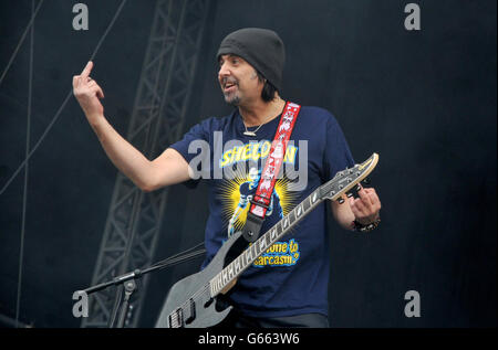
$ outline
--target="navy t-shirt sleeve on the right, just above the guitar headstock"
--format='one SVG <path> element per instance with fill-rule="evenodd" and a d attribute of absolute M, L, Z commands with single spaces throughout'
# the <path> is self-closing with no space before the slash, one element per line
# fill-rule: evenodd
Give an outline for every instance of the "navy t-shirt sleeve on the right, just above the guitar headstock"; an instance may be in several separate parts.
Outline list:
<path fill-rule="evenodd" d="M 329 114 L 325 132 L 324 181 L 332 179 L 338 171 L 354 166 L 347 141 L 335 117 Z"/>

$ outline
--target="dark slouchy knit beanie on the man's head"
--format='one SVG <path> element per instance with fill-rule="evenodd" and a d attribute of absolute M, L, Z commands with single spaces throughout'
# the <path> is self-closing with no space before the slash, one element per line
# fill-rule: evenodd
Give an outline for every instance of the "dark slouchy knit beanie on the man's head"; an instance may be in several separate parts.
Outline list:
<path fill-rule="evenodd" d="M 228 34 L 216 57 L 235 54 L 246 60 L 280 91 L 286 50 L 279 35 L 268 29 L 245 28 Z"/>

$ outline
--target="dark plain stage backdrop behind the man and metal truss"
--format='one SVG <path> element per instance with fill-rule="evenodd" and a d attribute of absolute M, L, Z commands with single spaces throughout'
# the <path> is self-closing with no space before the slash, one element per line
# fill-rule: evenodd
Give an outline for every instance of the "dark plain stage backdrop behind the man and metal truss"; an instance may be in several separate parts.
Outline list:
<path fill-rule="evenodd" d="M 185 130 L 226 106 L 216 50 L 243 26 L 276 30 L 287 46 L 282 96 L 331 110 L 356 161 L 380 153 L 372 185 L 381 226 L 353 234 L 331 221 L 332 327 L 496 327 L 496 1 L 211 1 Z M 35 2 L 38 3 L 38 2 Z M 76 1 L 45 1 L 34 22 L 31 147 L 121 1 L 84 1 L 90 30 L 72 29 Z M 126 135 L 155 1 L 129 0 L 95 57 L 105 114 Z M 3 72 L 31 1 L 0 1 Z M 29 35 L 0 85 L 0 187 L 24 159 Z M 29 162 L 20 320 L 79 327 L 72 293 L 91 283 L 116 169 L 71 98 Z M 0 195 L 0 314 L 15 317 L 23 171 Z M 203 241 L 207 191 L 170 189 L 155 261 Z M 141 327 L 170 285 L 201 258 L 151 278 Z M 421 317 L 407 318 L 417 290 Z"/>

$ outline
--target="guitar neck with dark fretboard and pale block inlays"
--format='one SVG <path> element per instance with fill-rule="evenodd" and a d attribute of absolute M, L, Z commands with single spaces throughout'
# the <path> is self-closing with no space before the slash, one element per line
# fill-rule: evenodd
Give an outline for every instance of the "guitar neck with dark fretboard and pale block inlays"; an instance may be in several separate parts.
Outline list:
<path fill-rule="evenodd" d="M 240 274 L 242 274 L 261 254 L 263 254 L 280 237 L 286 235 L 292 226 L 300 222 L 318 204 L 323 201 L 321 188 L 314 190 L 301 203 L 294 206 L 273 227 L 268 230 L 261 237 L 247 247 L 242 254 L 227 265 L 210 282 L 211 297 L 217 296 L 228 285 L 230 285 Z"/>

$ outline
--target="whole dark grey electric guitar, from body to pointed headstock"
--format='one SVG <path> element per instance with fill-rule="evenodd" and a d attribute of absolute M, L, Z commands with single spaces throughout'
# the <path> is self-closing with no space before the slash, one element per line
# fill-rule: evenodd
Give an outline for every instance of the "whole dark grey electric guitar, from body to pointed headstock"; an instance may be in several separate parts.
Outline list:
<path fill-rule="evenodd" d="M 159 328 L 206 328 L 221 322 L 232 307 L 219 310 L 217 298 L 226 294 L 237 278 L 273 243 L 300 222 L 325 199 L 344 202 L 343 194 L 353 195 L 375 168 L 378 155 L 373 153 L 366 161 L 353 168 L 339 171 L 335 177 L 314 190 L 307 199 L 295 205 L 273 227 L 261 235 L 251 245 L 239 231 L 231 235 L 220 247 L 209 265 L 201 272 L 185 277 L 169 289 L 156 327 Z M 234 257 L 234 252 L 241 254 Z"/>

